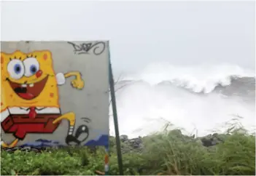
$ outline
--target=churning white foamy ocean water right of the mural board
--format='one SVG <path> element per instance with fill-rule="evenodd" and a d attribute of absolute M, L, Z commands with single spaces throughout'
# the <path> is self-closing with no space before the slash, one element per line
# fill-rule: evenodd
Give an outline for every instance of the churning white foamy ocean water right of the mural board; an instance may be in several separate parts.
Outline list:
<path fill-rule="evenodd" d="M 224 132 L 234 119 L 249 132 L 255 129 L 255 70 L 153 63 L 115 81 L 120 135 L 150 135 L 171 124 L 168 129 L 203 136 Z M 109 112 L 115 135 L 111 105 Z"/>

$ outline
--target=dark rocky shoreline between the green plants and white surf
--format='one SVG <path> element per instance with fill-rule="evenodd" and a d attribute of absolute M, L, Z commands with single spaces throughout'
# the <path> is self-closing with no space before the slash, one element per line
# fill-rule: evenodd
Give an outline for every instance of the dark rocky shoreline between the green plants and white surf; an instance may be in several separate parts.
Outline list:
<path fill-rule="evenodd" d="M 173 134 L 176 137 L 178 137 L 179 140 L 182 141 L 187 141 L 188 143 L 200 143 L 201 145 L 203 145 L 206 148 L 209 148 L 211 146 L 217 145 L 219 143 L 223 143 L 225 141 L 225 136 L 227 135 L 222 135 L 222 134 L 218 134 L 218 133 L 214 133 L 214 134 L 209 134 L 206 135 L 204 137 L 195 137 L 193 136 L 187 136 L 187 135 L 182 135 L 182 132 L 179 129 L 174 129 L 172 131 L 169 132 L 169 134 Z M 121 151 L 122 153 L 128 153 L 131 151 L 137 151 L 137 152 L 141 152 L 144 149 L 144 140 L 147 140 L 147 138 L 150 138 L 151 136 L 146 136 L 146 137 L 136 137 L 136 138 L 128 138 L 128 135 L 120 135 L 120 142 L 121 142 Z M 157 138 L 157 137 L 156 137 Z M 154 142 L 154 137 L 151 139 L 152 142 Z M 157 141 L 155 141 L 157 142 Z M 109 145 L 110 148 L 115 148 L 116 147 L 116 143 L 115 143 L 115 137 L 110 136 L 109 137 Z M 65 148 L 65 146 L 54 146 L 54 149 L 58 149 L 58 148 Z M 95 147 L 90 147 L 88 146 L 88 148 L 90 148 L 91 151 L 95 151 L 96 148 Z M 26 152 L 30 152 L 30 151 L 34 151 L 36 153 L 41 153 L 42 151 L 50 151 L 50 147 L 34 147 L 34 146 L 25 146 L 25 147 L 15 147 L 15 148 L 1 148 L 1 151 L 7 151 L 7 152 L 14 152 L 14 151 L 26 151 Z"/>

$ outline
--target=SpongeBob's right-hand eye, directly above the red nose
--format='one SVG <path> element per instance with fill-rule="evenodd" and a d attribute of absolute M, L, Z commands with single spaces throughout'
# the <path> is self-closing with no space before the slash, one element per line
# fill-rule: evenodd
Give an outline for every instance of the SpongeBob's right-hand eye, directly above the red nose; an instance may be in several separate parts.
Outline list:
<path fill-rule="evenodd" d="M 39 63 L 34 57 L 28 57 L 23 61 L 25 65 L 25 76 L 32 76 L 39 71 Z"/>

